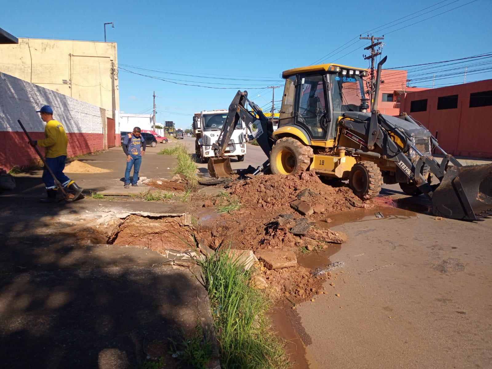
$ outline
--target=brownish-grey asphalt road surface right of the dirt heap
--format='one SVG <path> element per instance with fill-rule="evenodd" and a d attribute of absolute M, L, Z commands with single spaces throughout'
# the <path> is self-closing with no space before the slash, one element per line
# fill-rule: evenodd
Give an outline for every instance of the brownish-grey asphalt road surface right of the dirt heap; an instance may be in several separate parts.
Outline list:
<path fill-rule="evenodd" d="M 264 160 L 248 145 L 245 161 L 231 165 Z M 491 368 L 492 219 L 436 219 L 425 196 L 398 185 L 381 194 L 398 207 L 331 216 L 349 241 L 319 260 L 343 262 L 343 273 L 296 309 L 310 368 Z"/>

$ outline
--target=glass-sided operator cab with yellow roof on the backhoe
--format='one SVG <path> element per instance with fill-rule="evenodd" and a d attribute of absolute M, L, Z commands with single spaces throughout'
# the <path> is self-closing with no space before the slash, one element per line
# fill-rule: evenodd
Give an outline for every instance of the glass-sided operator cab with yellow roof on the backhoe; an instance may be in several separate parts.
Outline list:
<path fill-rule="evenodd" d="M 339 117 L 346 111 L 361 111 L 364 108 L 362 77 L 365 73 L 361 69 L 334 64 L 283 72 L 285 88 L 279 128 L 295 126 L 313 143 L 334 140 Z"/>

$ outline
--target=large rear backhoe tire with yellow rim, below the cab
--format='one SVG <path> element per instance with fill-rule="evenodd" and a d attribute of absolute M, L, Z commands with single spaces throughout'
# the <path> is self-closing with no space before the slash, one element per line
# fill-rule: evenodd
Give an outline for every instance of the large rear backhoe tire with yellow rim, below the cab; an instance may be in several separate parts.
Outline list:
<path fill-rule="evenodd" d="M 304 172 L 311 164 L 312 148 L 301 141 L 284 137 L 279 139 L 270 152 L 272 174 L 284 176 Z"/>

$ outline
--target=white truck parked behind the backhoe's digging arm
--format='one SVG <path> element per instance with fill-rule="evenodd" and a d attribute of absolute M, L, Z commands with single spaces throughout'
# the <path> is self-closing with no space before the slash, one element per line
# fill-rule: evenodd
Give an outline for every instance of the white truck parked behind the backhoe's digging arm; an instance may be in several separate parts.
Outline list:
<path fill-rule="evenodd" d="M 193 133 L 196 136 L 195 152 L 202 163 L 208 162 L 209 158 L 214 157 L 212 144 L 217 143 L 217 139 L 224 125 L 227 113 L 229 111 L 222 110 L 203 110 L 200 113 L 195 113 L 193 116 Z M 242 120 L 236 124 L 232 133 L 231 139 L 227 144 L 224 155 L 237 156 L 238 161 L 243 161 L 246 155 L 246 142 L 244 135 L 245 125 Z"/>

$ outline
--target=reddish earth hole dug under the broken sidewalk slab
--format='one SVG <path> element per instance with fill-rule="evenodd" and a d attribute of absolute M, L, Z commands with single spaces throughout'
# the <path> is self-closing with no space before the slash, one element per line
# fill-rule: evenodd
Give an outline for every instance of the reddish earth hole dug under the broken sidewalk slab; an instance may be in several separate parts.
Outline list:
<path fill-rule="evenodd" d="M 184 217 L 128 215 L 109 235 L 107 244 L 144 246 L 162 254 L 168 249 L 187 250 L 194 246 L 193 228 L 185 224 Z"/>

